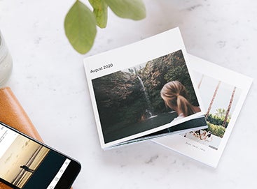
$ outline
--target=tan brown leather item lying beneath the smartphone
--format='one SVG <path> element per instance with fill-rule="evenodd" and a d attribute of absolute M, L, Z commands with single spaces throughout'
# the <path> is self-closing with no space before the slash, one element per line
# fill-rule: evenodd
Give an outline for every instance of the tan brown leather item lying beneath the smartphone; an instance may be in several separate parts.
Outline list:
<path fill-rule="evenodd" d="M 0 121 L 43 142 L 32 121 L 30 121 L 9 87 L 0 89 Z M 0 182 L 0 189 L 12 188 Z"/>

